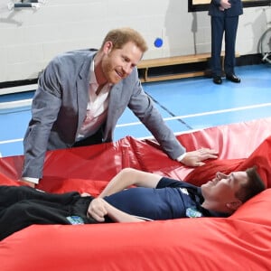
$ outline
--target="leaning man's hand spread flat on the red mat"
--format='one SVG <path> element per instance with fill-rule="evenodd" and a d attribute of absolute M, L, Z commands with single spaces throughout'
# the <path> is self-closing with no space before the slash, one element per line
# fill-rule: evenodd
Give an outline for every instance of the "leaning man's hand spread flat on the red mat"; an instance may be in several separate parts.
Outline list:
<path fill-rule="evenodd" d="M 205 164 L 202 161 L 216 158 L 218 158 L 217 151 L 208 148 L 201 148 L 200 150 L 187 152 L 180 162 L 187 166 L 201 166 Z"/>

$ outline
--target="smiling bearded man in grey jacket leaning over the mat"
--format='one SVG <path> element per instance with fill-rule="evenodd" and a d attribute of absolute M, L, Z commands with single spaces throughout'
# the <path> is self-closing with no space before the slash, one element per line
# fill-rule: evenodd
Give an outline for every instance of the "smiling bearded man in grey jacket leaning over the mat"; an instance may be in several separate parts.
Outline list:
<path fill-rule="evenodd" d="M 146 50 L 139 33 L 121 28 L 107 33 L 98 51 L 70 51 L 49 63 L 39 79 L 23 139 L 23 182 L 39 182 L 47 150 L 111 142 L 126 107 L 172 159 L 199 166 L 217 158 L 218 153 L 207 148 L 186 152 L 165 125 L 138 79 L 136 65 Z"/>

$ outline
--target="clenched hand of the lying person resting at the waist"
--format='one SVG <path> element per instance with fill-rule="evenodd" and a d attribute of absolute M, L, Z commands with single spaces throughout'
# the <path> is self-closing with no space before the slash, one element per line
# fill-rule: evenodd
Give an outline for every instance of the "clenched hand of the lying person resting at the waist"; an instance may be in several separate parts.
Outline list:
<path fill-rule="evenodd" d="M 91 216 L 98 222 L 104 222 L 105 216 L 107 215 L 107 201 L 102 198 L 96 198 L 89 204 L 87 216 Z"/>

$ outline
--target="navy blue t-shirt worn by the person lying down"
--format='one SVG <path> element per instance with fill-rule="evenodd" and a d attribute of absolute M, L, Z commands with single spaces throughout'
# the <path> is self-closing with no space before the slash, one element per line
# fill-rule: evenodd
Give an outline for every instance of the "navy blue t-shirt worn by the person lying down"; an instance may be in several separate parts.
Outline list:
<path fill-rule="evenodd" d="M 149 220 L 226 216 L 201 207 L 204 201 L 201 188 L 165 177 L 156 188 L 130 188 L 107 196 L 104 200 L 118 210 Z"/>

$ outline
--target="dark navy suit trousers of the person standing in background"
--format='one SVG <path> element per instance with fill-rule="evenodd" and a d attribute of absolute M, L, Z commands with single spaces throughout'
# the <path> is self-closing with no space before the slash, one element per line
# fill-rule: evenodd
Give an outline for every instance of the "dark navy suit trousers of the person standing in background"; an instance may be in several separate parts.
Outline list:
<path fill-rule="evenodd" d="M 211 16 L 211 70 L 213 76 L 222 76 L 220 54 L 223 34 L 225 33 L 225 61 L 226 74 L 234 73 L 235 67 L 235 42 L 238 30 L 238 16 Z"/>

